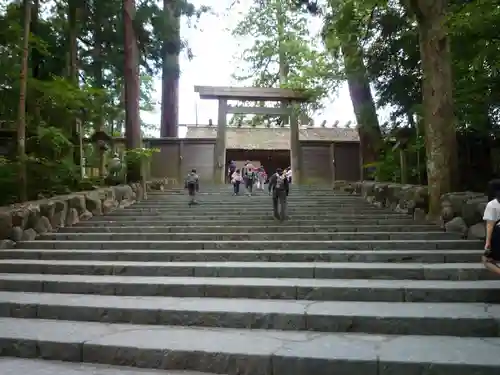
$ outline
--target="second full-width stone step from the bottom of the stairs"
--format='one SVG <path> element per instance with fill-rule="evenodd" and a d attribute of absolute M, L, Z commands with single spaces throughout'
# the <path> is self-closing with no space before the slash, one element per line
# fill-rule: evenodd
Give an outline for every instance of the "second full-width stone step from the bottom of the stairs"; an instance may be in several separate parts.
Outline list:
<path fill-rule="evenodd" d="M 229 300 L 0 292 L 0 317 L 9 316 L 389 335 L 497 337 L 500 334 L 500 306 L 484 303 Z"/>

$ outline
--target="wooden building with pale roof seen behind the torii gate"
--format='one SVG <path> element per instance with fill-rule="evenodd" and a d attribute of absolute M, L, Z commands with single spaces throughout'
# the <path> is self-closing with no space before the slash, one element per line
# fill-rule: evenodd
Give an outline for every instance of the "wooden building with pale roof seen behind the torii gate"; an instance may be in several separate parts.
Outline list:
<path fill-rule="evenodd" d="M 186 141 L 212 139 L 215 126 L 190 126 Z M 359 138 L 355 129 L 302 127 L 299 129 L 300 160 L 303 182 L 357 181 L 360 178 Z M 210 150 L 198 160 L 210 160 Z M 290 128 L 226 128 L 226 164 L 246 160 L 263 165 L 267 171 L 290 165 Z M 335 163 L 334 163 L 335 161 Z M 206 173 L 213 169 L 204 163 Z"/>

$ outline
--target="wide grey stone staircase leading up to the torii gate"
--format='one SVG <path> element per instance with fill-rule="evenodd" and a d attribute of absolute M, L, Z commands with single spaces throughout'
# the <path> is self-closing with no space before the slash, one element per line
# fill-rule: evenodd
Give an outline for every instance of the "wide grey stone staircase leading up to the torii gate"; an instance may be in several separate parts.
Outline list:
<path fill-rule="evenodd" d="M 500 373 L 477 241 L 326 188 L 283 224 L 266 193 L 149 198 L 0 252 L 2 375 Z"/>

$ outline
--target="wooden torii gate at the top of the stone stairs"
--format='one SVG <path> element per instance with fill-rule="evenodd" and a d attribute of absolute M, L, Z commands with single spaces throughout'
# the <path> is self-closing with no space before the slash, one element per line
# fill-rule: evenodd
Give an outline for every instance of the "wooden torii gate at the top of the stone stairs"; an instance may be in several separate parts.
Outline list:
<path fill-rule="evenodd" d="M 195 86 L 195 92 L 200 99 L 218 100 L 219 110 L 217 116 L 217 138 L 214 152 L 214 182 L 224 183 L 226 170 L 226 127 L 228 114 L 253 114 L 253 115 L 278 115 L 290 118 L 290 156 L 294 181 L 301 183 L 302 157 L 299 144 L 299 118 L 296 106 L 301 102 L 309 101 L 309 96 L 304 92 L 259 87 L 217 87 Z M 270 107 L 245 107 L 231 106 L 228 100 L 263 102 L 279 102 L 282 106 Z"/>

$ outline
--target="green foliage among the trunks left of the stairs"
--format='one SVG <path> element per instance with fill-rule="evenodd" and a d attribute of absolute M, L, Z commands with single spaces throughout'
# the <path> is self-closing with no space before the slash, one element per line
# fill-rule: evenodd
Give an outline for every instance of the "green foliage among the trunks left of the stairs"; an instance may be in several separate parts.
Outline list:
<path fill-rule="evenodd" d="M 187 42 L 180 39 L 179 22 L 172 20 L 188 17 L 195 23 L 210 11 L 187 0 L 171 3 L 167 9 L 148 0 L 136 4 L 141 110 L 151 111 L 157 104 L 153 83 L 162 68 L 165 46 L 175 47 L 170 53 L 192 55 Z M 32 9 L 29 69 L 25 72 L 26 156 L 19 161 L 10 154 L 0 157 L 0 205 L 18 199 L 19 162 L 28 171 L 29 199 L 103 185 L 102 178 L 80 179 L 80 166 L 75 163 L 77 124 L 83 137 L 95 129 L 124 135 L 123 2 L 63 0 L 38 5 L 39 9 Z M 15 130 L 19 117 L 21 42 L 26 26 L 23 11 L 22 2 L 0 0 L 0 130 Z M 71 50 L 75 43 L 76 50 Z M 69 57 L 75 54 L 78 61 L 71 66 Z M 141 125 L 143 132 L 157 129 L 154 124 Z M 15 149 L 16 140 L 8 140 L 6 146 Z M 90 166 L 99 165 L 94 148 L 84 147 Z M 147 163 L 154 152 L 131 150 L 126 158 Z"/>

